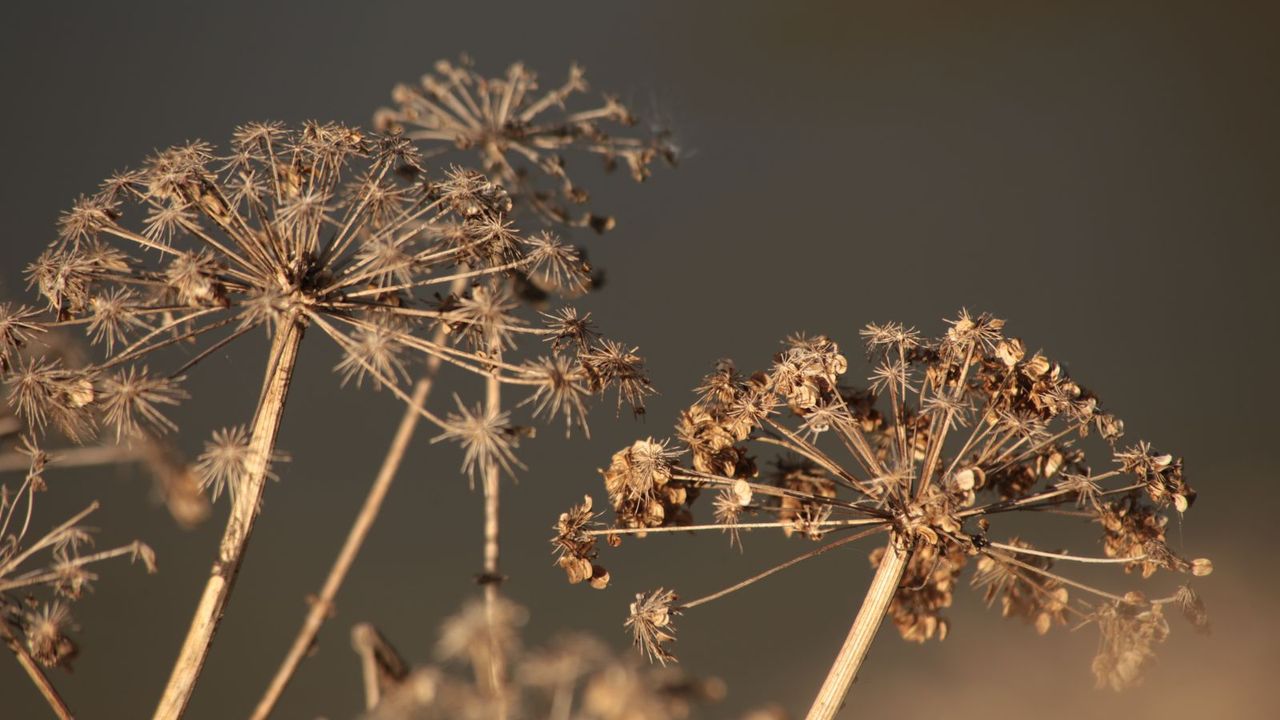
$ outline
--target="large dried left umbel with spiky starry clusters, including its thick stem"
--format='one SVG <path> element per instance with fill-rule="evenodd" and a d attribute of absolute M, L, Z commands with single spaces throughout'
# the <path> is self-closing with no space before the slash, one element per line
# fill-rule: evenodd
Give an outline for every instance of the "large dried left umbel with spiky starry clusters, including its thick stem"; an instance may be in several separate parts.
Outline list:
<path fill-rule="evenodd" d="M 58 240 L 28 269 L 52 316 L 8 316 L 4 359 L 24 336 L 52 327 L 83 328 L 104 359 L 12 368 L 10 405 L 37 432 L 56 427 L 83 442 L 99 414 L 120 439 L 170 432 L 186 373 L 255 328 L 271 337 L 253 421 L 215 433 L 200 459 L 204 482 L 215 495 L 228 491 L 232 511 L 157 717 L 183 711 L 207 655 L 280 457 L 275 437 L 305 329 L 319 328 L 343 351 L 335 370 L 344 383 L 407 401 L 442 439 L 463 446 L 471 474 L 493 482 L 516 464 L 522 434 L 493 402 L 500 386 L 527 388 L 534 415 L 563 416 L 567 428 L 585 429 L 586 398 L 611 387 L 620 404 L 641 406 L 648 380 L 627 346 L 600 340 L 572 309 L 540 325 L 516 314 L 517 274 L 575 290 L 588 268 L 548 233 L 520 234 L 509 209 L 481 174 L 428 177 L 403 137 L 253 123 L 225 155 L 198 141 L 164 150 L 64 214 Z M 424 337 L 424 327 L 436 334 Z M 529 352 L 525 338 L 548 341 L 536 345 L 550 352 Z M 160 351 L 174 346 L 189 347 L 188 357 L 154 373 Z M 448 415 L 425 409 L 402 387 L 415 356 L 483 377 L 490 402 L 460 401 Z"/>

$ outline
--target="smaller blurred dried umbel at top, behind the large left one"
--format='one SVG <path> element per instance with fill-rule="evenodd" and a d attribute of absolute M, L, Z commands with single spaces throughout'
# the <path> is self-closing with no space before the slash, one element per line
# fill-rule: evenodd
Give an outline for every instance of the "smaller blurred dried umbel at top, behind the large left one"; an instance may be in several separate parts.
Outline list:
<path fill-rule="evenodd" d="M 605 232 L 613 218 L 572 210 L 585 205 L 589 193 L 570 178 L 567 152 L 596 155 L 609 170 L 623 164 L 643 181 L 655 160 L 675 164 L 677 151 L 666 131 L 631 129 L 636 118 L 614 96 L 570 110 L 575 96 L 586 91 L 577 65 L 563 83 L 541 88 L 538 76 L 520 63 L 488 78 L 467 59 L 439 60 L 419 85 L 396 86 L 396 106 L 379 110 L 374 122 L 381 131 L 420 141 L 428 155 L 475 151 L 485 173 L 544 220 Z"/>

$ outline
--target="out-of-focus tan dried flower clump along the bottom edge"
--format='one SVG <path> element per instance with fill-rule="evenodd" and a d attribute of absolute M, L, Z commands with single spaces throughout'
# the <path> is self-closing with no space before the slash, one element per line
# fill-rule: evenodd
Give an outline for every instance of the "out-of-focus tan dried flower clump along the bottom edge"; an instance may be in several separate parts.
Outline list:
<path fill-rule="evenodd" d="M 490 623 L 486 603 L 472 601 L 445 620 L 436 646 L 440 664 L 412 670 L 372 625 L 357 625 L 352 644 L 364 669 L 365 717 L 489 720 L 507 712 L 521 720 L 678 720 L 724 696 L 717 679 L 648 667 L 634 656 L 618 657 L 590 635 L 562 635 L 544 648 L 526 650 L 520 643 L 526 620 L 524 609 L 504 600 Z M 499 655 L 492 652 L 494 634 Z M 494 662 L 507 667 L 495 673 Z M 470 674 L 457 674 L 458 666 Z M 489 685 L 495 675 L 512 679 L 502 707 Z M 751 717 L 783 716 L 762 711 Z"/>

